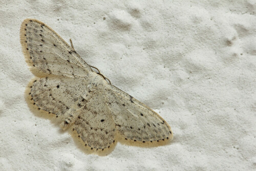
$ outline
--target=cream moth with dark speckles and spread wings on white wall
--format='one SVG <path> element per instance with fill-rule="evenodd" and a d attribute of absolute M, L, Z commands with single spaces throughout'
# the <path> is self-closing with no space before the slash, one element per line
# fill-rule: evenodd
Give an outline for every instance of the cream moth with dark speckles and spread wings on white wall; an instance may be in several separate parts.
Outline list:
<path fill-rule="evenodd" d="M 33 78 L 25 91 L 31 109 L 54 117 L 88 152 L 106 155 L 119 141 L 141 147 L 173 139 L 157 113 L 106 82 L 56 32 L 25 19 L 20 42 Z"/>

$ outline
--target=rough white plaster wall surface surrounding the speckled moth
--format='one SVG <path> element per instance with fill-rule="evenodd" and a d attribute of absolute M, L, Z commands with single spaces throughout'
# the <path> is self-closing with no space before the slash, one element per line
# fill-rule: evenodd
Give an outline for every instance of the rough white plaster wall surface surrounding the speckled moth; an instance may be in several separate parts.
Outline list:
<path fill-rule="evenodd" d="M 1 1 L 0 170 L 255 170 L 255 1 Z M 106 157 L 35 116 L 19 44 L 25 18 L 49 25 L 111 82 L 172 126 L 166 146 Z"/>

